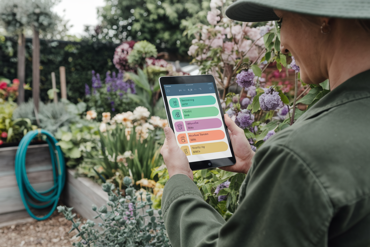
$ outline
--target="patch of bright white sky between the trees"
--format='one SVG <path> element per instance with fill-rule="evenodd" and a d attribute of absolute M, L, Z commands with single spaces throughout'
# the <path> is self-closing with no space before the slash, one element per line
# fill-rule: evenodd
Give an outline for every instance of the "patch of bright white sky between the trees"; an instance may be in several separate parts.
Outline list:
<path fill-rule="evenodd" d="M 104 0 L 61 0 L 54 11 L 64 20 L 70 20 L 67 34 L 80 37 L 84 33 L 84 25 L 98 24 L 97 7 L 105 6 Z M 65 11 L 64 11 L 65 10 Z"/>

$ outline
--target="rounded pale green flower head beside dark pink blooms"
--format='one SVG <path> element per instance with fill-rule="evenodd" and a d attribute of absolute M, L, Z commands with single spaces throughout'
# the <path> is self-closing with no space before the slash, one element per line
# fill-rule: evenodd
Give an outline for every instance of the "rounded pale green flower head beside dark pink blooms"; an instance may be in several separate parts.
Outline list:
<path fill-rule="evenodd" d="M 146 40 L 135 43 L 131 53 L 128 55 L 127 60 L 131 64 L 131 67 L 144 66 L 145 58 L 157 57 L 157 49 L 154 44 L 149 43 Z"/>

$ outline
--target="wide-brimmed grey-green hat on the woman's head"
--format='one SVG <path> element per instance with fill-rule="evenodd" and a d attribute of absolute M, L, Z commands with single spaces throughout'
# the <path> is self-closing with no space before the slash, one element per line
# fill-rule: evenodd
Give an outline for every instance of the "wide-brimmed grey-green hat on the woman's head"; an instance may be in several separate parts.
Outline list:
<path fill-rule="evenodd" d="M 370 19 L 370 0 L 238 0 L 225 14 L 236 21 L 279 20 L 273 9 L 314 16 Z"/>

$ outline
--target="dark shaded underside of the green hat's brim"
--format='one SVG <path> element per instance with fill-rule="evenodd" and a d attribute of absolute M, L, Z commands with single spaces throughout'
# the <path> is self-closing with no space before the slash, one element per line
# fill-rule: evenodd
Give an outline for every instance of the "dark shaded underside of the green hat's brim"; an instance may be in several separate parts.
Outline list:
<path fill-rule="evenodd" d="M 236 1 L 225 11 L 227 17 L 236 21 L 260 22 L 279 20 L 272 8 L 247 1 Z"/>

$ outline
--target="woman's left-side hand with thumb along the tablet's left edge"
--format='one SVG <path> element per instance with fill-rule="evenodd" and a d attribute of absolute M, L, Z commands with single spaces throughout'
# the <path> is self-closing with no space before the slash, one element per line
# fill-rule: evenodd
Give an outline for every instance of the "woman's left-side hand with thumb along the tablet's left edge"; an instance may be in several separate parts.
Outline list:
<path fill-rule="evenodd" d="M 184 151 L 178 146 L 174 131 L 170 127 L 165 127 L 164 133 L 166 139 L 162 146 L 161 154 L 169 177 L 175 174 L 184 174 L 193 180 L 193 171 L 190 169 L 188 158 L 186 158 Z"/>

